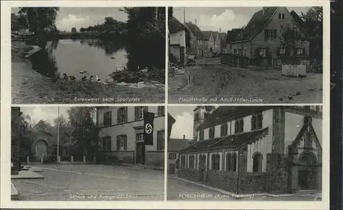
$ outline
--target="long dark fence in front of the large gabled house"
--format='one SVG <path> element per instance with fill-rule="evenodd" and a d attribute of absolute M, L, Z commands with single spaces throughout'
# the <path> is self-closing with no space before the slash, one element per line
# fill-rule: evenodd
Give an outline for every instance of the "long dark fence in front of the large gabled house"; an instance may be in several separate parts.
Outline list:
<path fill-rule="evenodd" d="M 272 57 L 258 57 L 249 58 L 242 57 L 238 55 L 232 55 L 230 53 L 222 54 L 222 64 L 228 66 L 250 66 L 252 68 L 270 68 L 276 67 L 281 68 L 282 65 L 305 65 L 307 67 L 311 66 L 311 61 L 304 57 L 294 57 L 294 58 L 272 58 Z"/>

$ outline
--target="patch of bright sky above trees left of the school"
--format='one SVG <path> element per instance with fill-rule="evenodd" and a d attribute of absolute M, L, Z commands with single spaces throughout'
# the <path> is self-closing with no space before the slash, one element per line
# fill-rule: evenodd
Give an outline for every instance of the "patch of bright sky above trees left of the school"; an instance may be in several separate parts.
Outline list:
<path fill-rule="evenodd" d="M 64 116 L 67 120 L 69 115 L 67 110 L 70 107 L 60 107 L 60 115 Z M 31 117 L 31 122 L 36 124 L 40 120 L 50 122 L 54 126 L 54 118 L 58 117 L 58 107 L 21 107 L 23 114 Z"/>

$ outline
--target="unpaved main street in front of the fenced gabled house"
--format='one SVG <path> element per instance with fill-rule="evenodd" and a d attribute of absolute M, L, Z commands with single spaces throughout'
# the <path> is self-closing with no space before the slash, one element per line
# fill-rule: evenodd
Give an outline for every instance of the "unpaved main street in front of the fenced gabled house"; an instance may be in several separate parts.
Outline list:
<path fill-rule="evenodd" d="M 197 60 L 189 66 L 190 86 L 169 81 L 169 103 L 321 103 L 322 74 L 308 73 L 305 78 L 281 76 L 281 70 L 253 70 L 220 64 L 219 58 Z M 186 74 L 183 77 L 187 77 Z M 180 79 L 179 79 L 180 80 Z M 185 79 L 183 79 L 185 81 Z M 187 81 L 187 80 L 186 80 Z M 180 81 L 179 81 L 180 83 Z M 233 101 L 220 101 L 231 99 Z M 256 101 L 258 100 L 258 101 Z"/>

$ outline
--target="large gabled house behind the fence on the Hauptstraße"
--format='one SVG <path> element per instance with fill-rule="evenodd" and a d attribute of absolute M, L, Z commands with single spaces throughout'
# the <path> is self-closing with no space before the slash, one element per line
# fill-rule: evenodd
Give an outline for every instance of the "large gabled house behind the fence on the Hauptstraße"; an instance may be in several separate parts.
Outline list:
<path fill-rule="evenodd" d="M 286 7 L 263 7 L 255 12 L 246 27 L 239 34 L 228 33 L 226 38 L 226 53 L 233 53 L 248 58 L 266 57 L 279 58 L 283 56 L 309 56 L 309 42 L 294 41 L 295 51 L 283 46 L 282 31 L 289 27 L 296 29 L 303 25 L 303 20 L 296 12 Z"/>

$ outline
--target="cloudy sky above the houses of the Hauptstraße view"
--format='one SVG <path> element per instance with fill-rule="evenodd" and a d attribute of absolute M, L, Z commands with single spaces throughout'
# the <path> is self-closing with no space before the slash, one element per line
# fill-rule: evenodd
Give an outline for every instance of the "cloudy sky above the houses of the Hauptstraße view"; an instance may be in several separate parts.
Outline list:
<path fill-rule="evenodd" d="M 233 28 L 240 28 L 246 25 L 252 14 L 262 8 L 185 8 L 185 20 L 196 23 L 202 31 L 220 31 L 227 32 Z M 297 14 L 305 12 L 307 8 L 287 8 L 294 10 Z M 174 16 L 183 23 L 184 8 L 173 8 Z"/>

